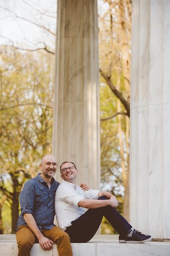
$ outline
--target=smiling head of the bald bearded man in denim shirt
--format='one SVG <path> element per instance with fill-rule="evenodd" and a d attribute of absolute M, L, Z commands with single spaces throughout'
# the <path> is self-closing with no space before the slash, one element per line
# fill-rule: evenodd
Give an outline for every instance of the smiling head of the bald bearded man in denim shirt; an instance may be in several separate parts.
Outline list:
<path fill-rule="evenodd" d="M 42 176 L 47 179 L 52 178 L 57 171 L 57 162 L 54 156 L 46 155 L 43 157 L 40 163 L 40 169 Z"/>

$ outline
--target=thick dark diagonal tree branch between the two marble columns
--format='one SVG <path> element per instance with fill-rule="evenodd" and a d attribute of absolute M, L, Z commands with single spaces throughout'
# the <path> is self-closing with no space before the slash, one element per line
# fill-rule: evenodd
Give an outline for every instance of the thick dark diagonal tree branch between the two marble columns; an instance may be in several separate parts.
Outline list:
<path fill-rule="evenodd" d="M 127 102 L 126 99 L 124 99 L 124 96 L 120 91 L 118 91 L 115 87 L 115 85 L 112 83 L 111 79 L 109 76 L 107 76 L 101 69 L 100 69 L 101 76 L 106 80 L 107 84 L 109 85 L 110 89 L 112 92 L 115 94 L 115 96 L 120 99 L 121 103 L 124 105 L 124 108 L 127 111 L 127 116 L 130 117 L 130 104 Z"/>

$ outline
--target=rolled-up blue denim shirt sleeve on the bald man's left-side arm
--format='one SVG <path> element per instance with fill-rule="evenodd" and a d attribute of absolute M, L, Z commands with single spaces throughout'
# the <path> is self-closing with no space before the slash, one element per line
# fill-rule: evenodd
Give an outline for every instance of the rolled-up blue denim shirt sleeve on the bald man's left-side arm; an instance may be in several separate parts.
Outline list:
<path fill-rule="evenodd" d="M 33 214 L 35 201 L 35 186 L 30 181 L 27 181 L 20 192 L 20 207 L 21 214 L 31 213 Z"/>

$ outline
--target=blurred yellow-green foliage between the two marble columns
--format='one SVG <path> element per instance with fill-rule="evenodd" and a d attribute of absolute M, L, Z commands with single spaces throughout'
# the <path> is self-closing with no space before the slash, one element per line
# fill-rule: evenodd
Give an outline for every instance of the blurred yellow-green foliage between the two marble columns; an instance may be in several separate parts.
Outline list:
<path fill-rule="evenodd" d="M 117 208 L 123 213 L 124 186 L 129 172 L 128 127 L 125 116 L 106 119 L 117 112 L 126 112 L 125 107 L 108 81 L 129 102 L 130 96 L 130 32 L 131 3 L 122 0 L 98 0 L 99 6 L 99 64 L 100 117 L 101 117 L 101 189 L 112 192 L 121 202 Z M 101 11 L 100 11 L 101 7 Z M 125 11 L 126 10 L 126 11 Z M 111 88 L 112 88 L 111 87 Z M 103 218 L 101 233 L 115 233 Z"/>

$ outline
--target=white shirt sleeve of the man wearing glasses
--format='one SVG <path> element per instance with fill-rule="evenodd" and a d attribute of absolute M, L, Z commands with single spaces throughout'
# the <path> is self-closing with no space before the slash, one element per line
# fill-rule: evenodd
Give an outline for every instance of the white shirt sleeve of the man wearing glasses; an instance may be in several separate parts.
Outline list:
<path fill-rule="evenodd" d="M 78 195 L 68 186 L 58 186 L 58 189 L 55 194 L 55 201 L 64 201 L 68 204 L 73 204 L 78 206 L 78 203 L 84 199 L 81 195 Z"/>

